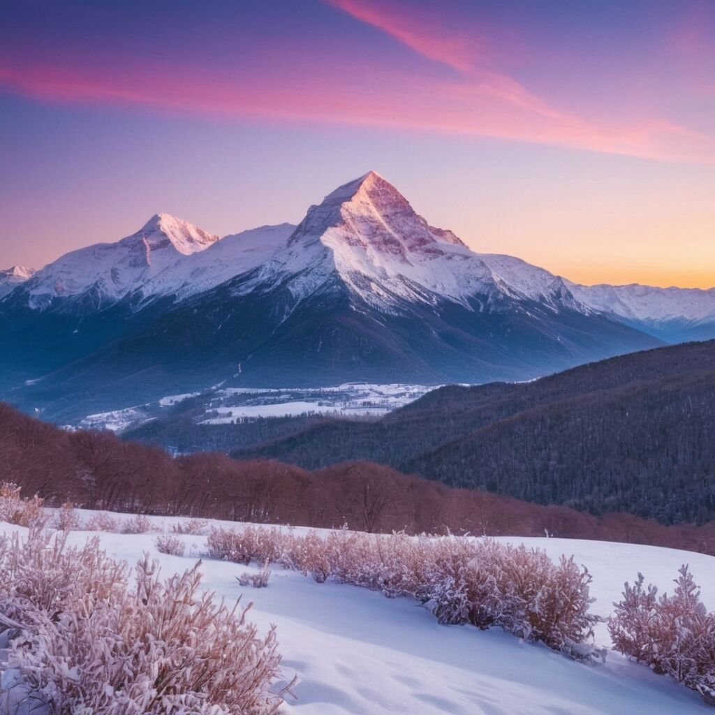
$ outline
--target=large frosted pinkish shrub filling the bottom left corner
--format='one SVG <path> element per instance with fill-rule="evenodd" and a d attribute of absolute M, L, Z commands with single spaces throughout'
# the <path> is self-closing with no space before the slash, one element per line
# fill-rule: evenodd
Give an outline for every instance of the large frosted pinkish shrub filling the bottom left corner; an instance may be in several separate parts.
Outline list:
<path fill-rule="evenodd" d="M 19 674 L 32 710 L 57 715 L 265 715 L 280 655 L 275 630 L 259 636 L 248 608 L 197 595 L 200 561 L 162 581 L 145 555 L 129 569 L 95 538 L 0 537 L 0 671 Z M 250 608 L 250 606 L 249 606 Z M 0 674 L 1 675 L 1 674 Z"/>

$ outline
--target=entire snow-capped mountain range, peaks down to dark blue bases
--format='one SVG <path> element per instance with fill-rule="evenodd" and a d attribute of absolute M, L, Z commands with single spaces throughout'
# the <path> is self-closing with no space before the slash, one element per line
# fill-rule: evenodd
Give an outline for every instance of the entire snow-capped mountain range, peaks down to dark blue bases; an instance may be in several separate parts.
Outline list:
<path fill-rule="evenodd" d="M 0 274 L 0 397 L 71 422 L 236 386 L 531 380 L 715 337 L 715 291 L 576 285 L 428 225 L 375 172 L 300 225 L 169 215 Z"/>

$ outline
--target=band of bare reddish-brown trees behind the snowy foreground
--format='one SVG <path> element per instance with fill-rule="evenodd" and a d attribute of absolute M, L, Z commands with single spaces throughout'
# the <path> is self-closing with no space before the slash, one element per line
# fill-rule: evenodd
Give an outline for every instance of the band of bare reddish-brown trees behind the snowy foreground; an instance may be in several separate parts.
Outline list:
<path fill-rule="evenodd" d="M 172 458 L 109 433 L 69 432 L 0 403 L 0 480 L 49 505 L 360 531 L 551 536 L 653 543 L 715 554 L 715 523 L 665 527 L 449 488 L 374 463 L 315 471 L 216 453 Z"/>

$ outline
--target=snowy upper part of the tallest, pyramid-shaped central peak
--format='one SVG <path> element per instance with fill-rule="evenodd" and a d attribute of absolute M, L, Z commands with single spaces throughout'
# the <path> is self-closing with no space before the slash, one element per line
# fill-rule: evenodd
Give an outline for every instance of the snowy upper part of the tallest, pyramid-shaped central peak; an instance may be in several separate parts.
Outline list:
<path fill-rule="evenodd" d="M 352 294 L 388 312 L 403 301 L 440 298 L 471 309 L 477 295 L 576 305 L 560 278 L 518 259 L 511 261 L 526 275 L 499 272 L 484 258 L 452 232 L 428 225 L 395 187 L 369 172 L 310 207 L 285 250 L 242 290 L 278 276 L 300 298 L 338 277 Z"/>

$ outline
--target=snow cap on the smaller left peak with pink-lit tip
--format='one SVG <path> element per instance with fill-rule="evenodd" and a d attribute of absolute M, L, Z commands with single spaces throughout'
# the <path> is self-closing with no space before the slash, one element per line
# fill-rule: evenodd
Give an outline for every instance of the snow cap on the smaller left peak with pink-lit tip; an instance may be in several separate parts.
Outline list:
<path fill-rule="evenodd" d="M 202 251 L 218 237 L 168 214 L 154 215 L 116 243 L 97 243 L 66 253 L 23 286 L 30 307 L 54 298 L 89 294 L 97 307 L 139 289 L 179 258 Z"/>

